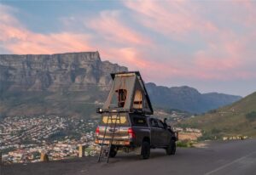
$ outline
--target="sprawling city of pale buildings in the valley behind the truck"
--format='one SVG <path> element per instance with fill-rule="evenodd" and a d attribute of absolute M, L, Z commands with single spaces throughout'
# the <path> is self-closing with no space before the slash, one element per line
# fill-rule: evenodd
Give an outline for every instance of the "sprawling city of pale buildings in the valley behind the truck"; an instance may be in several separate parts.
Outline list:
<path fill-rule="evenodd" d="M 165 116 L 165 115 L 164 115 Z M 167 117 L 167 116 L 166 116 Z M 181 121 L 176 112 L 168 121 Z M 79 156 L 79 145 L 84 156 L 95 156 L 99 146 L 94 143 L 99 119 L 77 119 L 69 116 L 15 116 L 0 121 L 0 144 L 3 164 L 40 161 L 41 153 L 49 161 Z M 175 127 L 180 140 L 197 140 L 201 130 Z"/>

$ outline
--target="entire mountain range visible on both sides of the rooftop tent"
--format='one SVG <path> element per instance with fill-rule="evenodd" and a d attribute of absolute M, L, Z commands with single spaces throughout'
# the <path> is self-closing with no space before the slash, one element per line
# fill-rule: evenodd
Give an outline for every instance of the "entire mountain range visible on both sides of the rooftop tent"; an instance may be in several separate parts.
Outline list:
<path fill-rule="evenodd" d="M 0 55 L 0 116 L 96 116 L 112 79 L 125 66 L 102 61 L 98 52 Z M 240 99 L 195 88 L 147 83 L 155 107 L 201 113 Z"/>

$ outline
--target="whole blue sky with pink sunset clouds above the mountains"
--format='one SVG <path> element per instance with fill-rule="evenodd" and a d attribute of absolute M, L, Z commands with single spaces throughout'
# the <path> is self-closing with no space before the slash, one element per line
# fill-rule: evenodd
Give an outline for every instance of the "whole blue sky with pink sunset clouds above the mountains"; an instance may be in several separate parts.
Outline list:
<path fill-rule="evenodd" d="M 256 2 L 0 0 L 0 54 L 99 51 L 145 82 L 256 91 Z"/>

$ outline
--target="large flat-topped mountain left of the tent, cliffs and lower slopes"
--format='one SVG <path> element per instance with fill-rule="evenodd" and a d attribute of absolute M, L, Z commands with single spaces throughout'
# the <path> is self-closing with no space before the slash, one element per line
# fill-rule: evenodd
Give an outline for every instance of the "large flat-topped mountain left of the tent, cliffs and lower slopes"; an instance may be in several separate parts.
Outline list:
<path fill-rule="evenodd" d="M 98 52 L 0 55 L 0 116 L 93 116 L 124 66 Z"/>

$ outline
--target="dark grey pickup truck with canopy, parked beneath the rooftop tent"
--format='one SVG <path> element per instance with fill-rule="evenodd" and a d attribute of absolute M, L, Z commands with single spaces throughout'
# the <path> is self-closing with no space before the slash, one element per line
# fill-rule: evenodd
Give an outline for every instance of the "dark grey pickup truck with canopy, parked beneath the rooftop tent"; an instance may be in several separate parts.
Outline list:
<path fill-rule="evenodd" d="M 95 140 L 96 144 L 108 145 L 113 136 L 110 157 L 114 157 L 118 150 L 124 150 L 136 151 L 142 159 L 148 159 L 150 149 L 155 148 L 165 149 L 167 155 L 175 154 L 177 133 L 174 133 L 166 122 L 156 117 L 127 112 L 119 113 L 119 121 L 115 121 L 117 114 L 111 115 L 112 120 L 108 120 L 107 114 L 102 114 L 101 123 L 96 127 Z M 116 127 L 114 127 L 115 122 Z M 104 134 L 104 143 L 102 143 Z"/>

